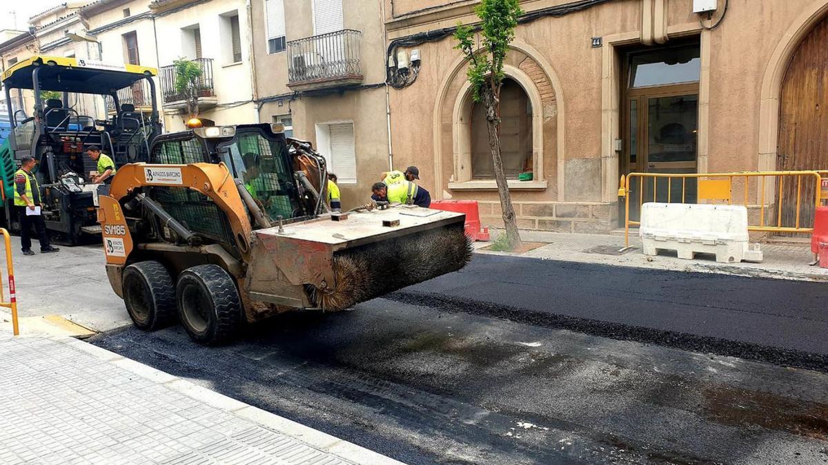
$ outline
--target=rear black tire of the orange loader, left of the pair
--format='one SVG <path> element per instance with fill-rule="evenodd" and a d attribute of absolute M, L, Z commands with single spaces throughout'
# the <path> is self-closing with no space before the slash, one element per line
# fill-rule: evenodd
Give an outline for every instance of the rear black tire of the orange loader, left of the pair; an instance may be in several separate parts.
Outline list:
<path fill-rule="evenodd" d="M 123 270 L 123 303 L 132 323 L 155 331 L 176 322 L 176 286 L 157 261 L 139 261 Z"/>

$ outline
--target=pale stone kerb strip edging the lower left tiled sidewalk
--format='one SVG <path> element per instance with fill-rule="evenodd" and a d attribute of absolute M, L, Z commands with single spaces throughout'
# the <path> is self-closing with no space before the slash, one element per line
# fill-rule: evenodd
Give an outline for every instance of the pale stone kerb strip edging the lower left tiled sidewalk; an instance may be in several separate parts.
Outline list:
<path fill-rule="evenodd" d="M 150 381 L 166 386 L 173 391 L 179 392 L 192 399 L 204 402 L 211 407 L 224 410 L 239 418 L 247 419 L 267 429 L 272 429 L 279 434 L 284 434 L 312 448 L 319 449 L 324 453 L 330 453 L 345 461 L 364 465 L 404 465 L 402 462 L 363 448 L 344 439 L 339 439 L 318 429 L 310 428 L 291 419 L 272 414 L 267 410 L 259 409 L 253 405 L 245 404 L 216 391 L 211 391 L 204 386 L 198 386 L 191 381 L 162 372 L 156 368 L 136 362 L 130 358 L 110 352 L 107 349 L 99 348 L 91 343 L 86 343 L 78 338 L 69 336 L 43 336 L 57 343 L 62 343 L 79 351 L 89 353 L 103 362 L 113 363 L 132 374 L 141 376 Z"/>

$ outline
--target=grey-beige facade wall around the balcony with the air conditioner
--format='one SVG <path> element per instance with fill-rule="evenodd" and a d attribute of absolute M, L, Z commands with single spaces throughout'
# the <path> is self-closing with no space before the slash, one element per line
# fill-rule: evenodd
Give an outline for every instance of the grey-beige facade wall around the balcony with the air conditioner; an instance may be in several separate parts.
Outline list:
<path fill-rule="evenodd" d="M 316 125 L 326 122 L 354 122 L 354 148 L 357 156 L 357 184 L 340 182 L 344 208 L 364 203 L 370 186 L 388 170 L 388 123 L 385 89 L 332 89 L 327 95 L 294 95 L 287 87 L 288 52 L 267 54 L 267 25 L 263 0 L 253 1 L 253 48 L 258 74 L 258 96 L 281 96 L 277 102 L 262 103 L 262 122 L 273 116 L 291 115 L 294 136 L 311 141 L 323 155 L 325 147 L 316 143 Z M 360 67 L 363 84 L 385 81 L 385 38 L 379 2 L 344 0 L 344 27 L 362 31 Z M 295 41 L 314 35 L 313 12 L 309 0 L 285 0 L 286 40 Z"/>

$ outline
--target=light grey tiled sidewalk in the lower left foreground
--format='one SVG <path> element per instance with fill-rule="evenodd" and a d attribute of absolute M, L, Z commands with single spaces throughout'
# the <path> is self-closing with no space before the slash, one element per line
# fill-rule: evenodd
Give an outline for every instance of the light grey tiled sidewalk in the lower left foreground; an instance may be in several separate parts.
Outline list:
<path fill-rule="evenodd" d="M 0 335 L 0 463 L 398 463 L 75 338 Z"/>

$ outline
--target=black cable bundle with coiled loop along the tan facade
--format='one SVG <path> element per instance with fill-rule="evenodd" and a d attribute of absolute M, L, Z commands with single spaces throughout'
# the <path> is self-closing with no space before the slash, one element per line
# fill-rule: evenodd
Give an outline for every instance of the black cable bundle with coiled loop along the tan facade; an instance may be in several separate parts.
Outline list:
<path fill-rule="evenodd" d="M 534 12 L 528 12 L 517 20 L 517 24 L 527 24 L 536 21 L 543 17 L 562 17 L 570 13 L 580 12 L 585 9 L 595 7 L 607 2 L 614 2 L 615 0 L 580 0 L 579 2 L 566 3 L 556 7 L 542 8 Z M 394 39 L 388 44 L 386 52 L 386 83 L 394 89 L 404 89 L 416 81 L 417 75 L 420 72 L 420 56 L 419 50 L 412 50 L 412 58 L 410 63 L 407 62 L 407 55 L 405 52 L 398 53 L 397 50 L 401 47 L 415 47 L 421 46 L 428 42 L 442 41 L 446 37 L 452 36 L 457 27 L 443 27 L 433 31 L 419 32 L 411 36 L 400 37 Z M 479 31 L 479 26 L 475 27 L 475 31 Z M 415 53 L 416 52 L 416 60 Z M 402 67 L 401 67 L 402 65 Z"/>

